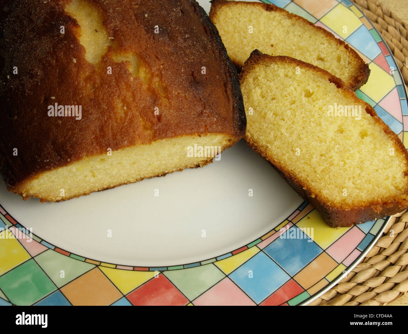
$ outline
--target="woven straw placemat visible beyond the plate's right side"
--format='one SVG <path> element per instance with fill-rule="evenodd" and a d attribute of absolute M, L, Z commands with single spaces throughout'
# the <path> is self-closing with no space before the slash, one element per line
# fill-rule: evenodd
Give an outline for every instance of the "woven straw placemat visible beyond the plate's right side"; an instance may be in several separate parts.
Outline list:
<path fill-rule="evenodd" d="M 377 0 L 353 2 L 388 44 L 407 85 L 408 24 Z M 404 2 L 401 8 L 406 8 L 408 15 L 408 3 Z M 408 305 L 407 251 L 408 211 L 394 215 L 366 257 L 334 288 L 309 305 Z"/>

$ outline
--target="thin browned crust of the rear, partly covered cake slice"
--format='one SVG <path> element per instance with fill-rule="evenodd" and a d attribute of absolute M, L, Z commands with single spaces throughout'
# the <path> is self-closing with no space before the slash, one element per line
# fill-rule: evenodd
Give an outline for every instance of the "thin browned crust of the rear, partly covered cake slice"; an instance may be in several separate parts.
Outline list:
<path fill-rule="evenodd" d="M 299 20 L 300 22 L 313 26 L 316 30 L 324 33 L 326 37 L 332 40 L 335 40 L 340 47 L 344 47 L 346 50 L 348 50 L 353 55 L 355 62 L 359 64 L 358 71 L 354 74 L 354 81 L 350 83 L 348 88 L 352 89 L 353 91 L 356 91 L 357 89 L 359 89 L 361 86 L 363 86 L 367 82 L 368 77 L 370 75 L 370 69 L 368 67 L 368 64 L 366 64 L 364 60 L 361 59 L 358 53 L 354 49 L 352 49 L 346 42 L 344 42 L 343 40 L 340 40 L 339 38 L 336 38 L 335 35 L 330 33 L 330 31 L 327 31 L 326 29 L 322 27 L 315 26 L 312 22 L 306 20 L 305 18 L 302 18 L 302 16 L 299 16 L 293 13 L 289 13 L 285 9 L 277 7 L 274 4 L 266 4 L 263 2 L 247 2 L 247 1 L 233 1 L 233 0 L 211 0 L 210 2 L 211 2 L 211 10 L 209 13 L 209 17 L 211 20 L 213 20 L 214 15 L 217 12 L 219 7 L 222 7 L 226 2 L 236 2 L 237 4 L 245 4 L 248 6 L 258 6 L 260 8 L 263 8 L 265 11 L 276 11 L 276 12 L 279 12 L 285 15 L 286 17 L 290 19 Z M 235 67 L 237 68 L 237 70 L 241 71 L 242 66 L 240 66 L 239 64 L 236 64 L 235 62 L 233 63 Z"/>

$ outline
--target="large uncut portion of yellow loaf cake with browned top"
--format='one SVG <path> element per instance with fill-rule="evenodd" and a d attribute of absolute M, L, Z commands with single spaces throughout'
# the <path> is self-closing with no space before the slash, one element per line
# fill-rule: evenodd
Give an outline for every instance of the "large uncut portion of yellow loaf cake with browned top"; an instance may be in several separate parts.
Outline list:
<path fill-rule="evenodd" d="M 0 172 L 24 199 L 203 166 L 244 137 L 236 69 L 197 2 L 6 0 L 0 11 Z"/>

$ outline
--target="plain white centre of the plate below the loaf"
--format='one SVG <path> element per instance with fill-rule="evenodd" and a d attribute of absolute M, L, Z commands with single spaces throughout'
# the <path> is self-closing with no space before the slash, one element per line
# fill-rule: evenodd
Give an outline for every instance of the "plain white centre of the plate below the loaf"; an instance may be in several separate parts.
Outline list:
<path fill-rule="evenodd" d="M 23 201 L 3 181 L 0 198 L 14 219 L 59 248 L 144 267 L 193 263 L 231 252 L 273 229 L 302 203 L 244 140 L 203 168 L 68 201 Z"/>

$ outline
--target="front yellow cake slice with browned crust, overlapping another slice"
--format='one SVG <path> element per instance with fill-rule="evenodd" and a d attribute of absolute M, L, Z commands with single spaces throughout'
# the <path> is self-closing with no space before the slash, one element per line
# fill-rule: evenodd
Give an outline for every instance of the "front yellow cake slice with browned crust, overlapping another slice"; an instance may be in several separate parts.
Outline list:
<path fill-rule="evenodd" d="M 408 155 L 397 135 L 327 71 L 255 50 L 239 74 L 245 139 L 330 227 L 408 207 Z"/>

